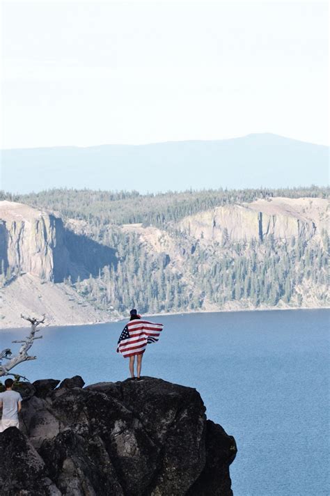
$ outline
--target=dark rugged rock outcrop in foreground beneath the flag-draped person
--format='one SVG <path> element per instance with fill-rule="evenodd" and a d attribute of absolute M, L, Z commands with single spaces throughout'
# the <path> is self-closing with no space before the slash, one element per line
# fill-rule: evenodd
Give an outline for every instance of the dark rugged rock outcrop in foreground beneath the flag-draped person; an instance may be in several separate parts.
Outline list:
<path fill-rule="evenodd" d="M 21 432 L 0 434 L 1 496 L 233 494 L 235 440 L 195 389 L 155 378 L 81 389 L 78 378 L 30 388 Z"/>

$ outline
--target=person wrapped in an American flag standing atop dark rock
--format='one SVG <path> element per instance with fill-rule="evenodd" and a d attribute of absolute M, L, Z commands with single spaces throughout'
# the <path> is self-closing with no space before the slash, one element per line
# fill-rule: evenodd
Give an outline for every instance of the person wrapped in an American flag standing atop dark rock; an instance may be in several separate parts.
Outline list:
<path fill-rule="evenodd" d="M 159 334 L 163 329 L 162 324 L 155 324 L 148 320 L 141 319 L 136 309 L 129 312 L 129 322 L 125 325 L 123 332 L 118 339 L 117 353 L 123 357 L 129 357 L 129 372 L 132 380 L 141 381 L 141 366 L 143 353 L 146 351 L 148 343 L 155 343 L 159 339 Z M 136 378 L 134 375 L 134 361 L 136 365 Z"/>

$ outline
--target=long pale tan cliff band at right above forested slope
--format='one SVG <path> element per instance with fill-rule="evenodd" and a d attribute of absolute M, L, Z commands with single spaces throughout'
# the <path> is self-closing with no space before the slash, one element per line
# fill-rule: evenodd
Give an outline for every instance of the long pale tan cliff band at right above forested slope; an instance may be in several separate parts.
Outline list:
<path fill-rule="evenodd" d="M 263 240 L 268 235 L 308 240 L 327 229 L 329 202 L 320 198 L 272 198 L 207 210 L 182 219 L 180 231 L 197 239 L 220 243 L 230 240 Z"/>

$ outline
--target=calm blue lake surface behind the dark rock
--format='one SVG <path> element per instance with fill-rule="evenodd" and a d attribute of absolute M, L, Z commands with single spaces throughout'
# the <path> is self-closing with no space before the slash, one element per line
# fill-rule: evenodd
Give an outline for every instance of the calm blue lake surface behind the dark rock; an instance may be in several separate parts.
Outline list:
<path fill-rule="evenodd" d="M 235 437 L 235 496 L 322 496 L 329 486 L 329 310 L 195 313 L 164 323 L 144 375 L 196 387 L 207 417 Z M 13 371 L 31 381 L 128 377 L 116 353 L 123 323 L 45 327 Z M 26 330 L 2 330 L 0 348 Z"/>

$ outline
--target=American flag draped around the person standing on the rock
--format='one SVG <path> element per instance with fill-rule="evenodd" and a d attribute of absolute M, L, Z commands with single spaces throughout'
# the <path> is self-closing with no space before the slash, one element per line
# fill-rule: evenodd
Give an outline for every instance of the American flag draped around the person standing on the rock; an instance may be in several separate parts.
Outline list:
<path fill-rule="evenodd" d="M 162 329 L 162 324 L 148 320 L 130 320 L 118 339 L 117 353 L 121 353 L 123 357 L 141 355 L 145 352 L 148 343 L 158 341 Z"/>

